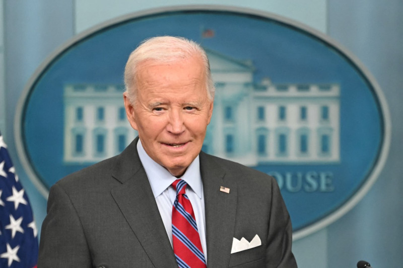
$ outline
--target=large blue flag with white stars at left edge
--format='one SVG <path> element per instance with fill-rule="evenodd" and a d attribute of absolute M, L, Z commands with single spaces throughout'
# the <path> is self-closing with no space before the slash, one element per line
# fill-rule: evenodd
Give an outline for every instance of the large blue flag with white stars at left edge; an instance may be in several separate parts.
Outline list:
<path fill-rule="evenodd" d="M 0 133 L 0 267 L 36 267 L 38 238 L 31 205 Z"/>

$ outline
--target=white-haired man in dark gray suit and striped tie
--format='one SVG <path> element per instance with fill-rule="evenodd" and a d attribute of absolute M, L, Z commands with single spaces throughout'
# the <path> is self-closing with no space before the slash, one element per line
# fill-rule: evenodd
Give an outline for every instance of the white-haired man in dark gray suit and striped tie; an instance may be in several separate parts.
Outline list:
<path fill-rule="evenodd" d="M 274 178 L 201 152 L 215 91 L 205 51 L 149 39 L 130 54 L 124 80 L 139 137 L 51 188 L 38 267 L 196 267 L 182 262 L 191 246 L 173 227 L 176 206 L 189 201 L 197 267 L 297 267 Z"/>

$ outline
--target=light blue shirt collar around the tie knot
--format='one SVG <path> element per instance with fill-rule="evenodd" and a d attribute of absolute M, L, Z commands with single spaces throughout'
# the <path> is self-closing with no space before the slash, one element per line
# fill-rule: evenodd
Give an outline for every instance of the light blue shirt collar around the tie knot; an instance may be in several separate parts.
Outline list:
<path fill-rule="evenodd" d="M 162 192 L 165 191 L 165 189 L 167 189 L 175 180 L 177 180 L 177 177 L 169 173 L 165 167 L 158 164 L 146 153 L 140 139 L 137 143 L 137 150 L 139 152 L 139 157 L 143 167 L 146 170 L 154 198 L 157 198 L 162 194 Z M 201 185 L 200 162 L 198 155 L 190 163 L 185 173 L 180 178 L 181 180 L 184 180 L 197 195 L 197 197 L 201 199 L 201 191 L 203 191 L 203 187 Z"/>

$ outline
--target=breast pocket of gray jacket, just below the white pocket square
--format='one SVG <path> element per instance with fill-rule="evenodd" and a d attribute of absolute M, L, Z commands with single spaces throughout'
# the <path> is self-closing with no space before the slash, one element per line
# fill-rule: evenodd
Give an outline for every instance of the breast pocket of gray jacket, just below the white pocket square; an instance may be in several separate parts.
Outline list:
<path fill-rule="evenodd" d="M 232 253 L 229 267 L 264 267 L 265 245 Z M 253 266 L 253 265 L 254 266 Z M 245 265 L 245 266 L 244 266 Z M 252 266 L 249 266 L 252 265 Z"/>

